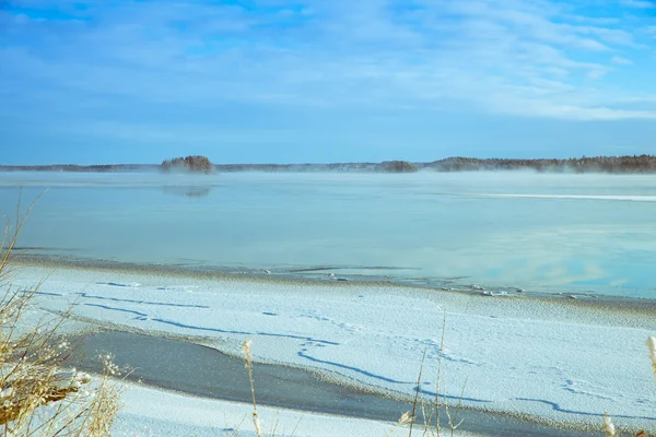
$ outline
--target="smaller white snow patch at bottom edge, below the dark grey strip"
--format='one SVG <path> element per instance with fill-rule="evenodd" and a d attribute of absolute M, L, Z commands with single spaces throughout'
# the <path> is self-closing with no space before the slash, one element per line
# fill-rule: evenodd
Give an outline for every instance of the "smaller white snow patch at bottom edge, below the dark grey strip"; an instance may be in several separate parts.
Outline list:
<path fill-rule="evenodd" d="M 113 429 L 116 437 L 256 435 L 251 404 L 201 399 L 133 383 L 126 385 L 122 400 L 126 406 Z M 262 435 L 271 437 L 384 437 L 395 430 L 393 423 L 285 409 L 258 406 L 257 414 Z M 391 436 L 407 434 L 407 427 L 400 427 Z M 457 432 L 456 436 L 475 435 Z"/>

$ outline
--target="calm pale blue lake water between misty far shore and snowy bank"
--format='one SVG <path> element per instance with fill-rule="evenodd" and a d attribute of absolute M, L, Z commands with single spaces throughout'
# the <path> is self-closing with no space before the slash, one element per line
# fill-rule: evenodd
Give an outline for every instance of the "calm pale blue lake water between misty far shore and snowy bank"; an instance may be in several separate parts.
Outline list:
<path fill-rule="evenodd" d="M 651 175 L 3 173 L 3 214 L 21 184 L 31 253 L 656 297 Z"/>

